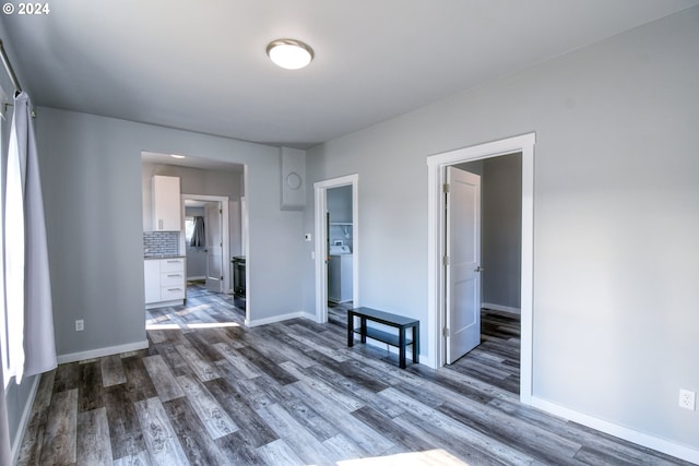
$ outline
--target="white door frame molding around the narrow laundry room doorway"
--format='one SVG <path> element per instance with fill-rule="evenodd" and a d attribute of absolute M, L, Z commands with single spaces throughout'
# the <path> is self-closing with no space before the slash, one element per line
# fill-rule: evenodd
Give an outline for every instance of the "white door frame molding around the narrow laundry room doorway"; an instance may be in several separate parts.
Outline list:
<path fill-rule="evenodd" d="M 328 242 L 325 231 L 325 212 L 328 198 L 325 192 L 332 188 L 352 186 L 352 302 L 359 306 L 359 175 L 346 175 L 313 183 L 315 214 L 313 229 L 316 243 L 313 258 L 316 261 L 316 322 L 328 322 L 328 266 L 323 259 Z"/>

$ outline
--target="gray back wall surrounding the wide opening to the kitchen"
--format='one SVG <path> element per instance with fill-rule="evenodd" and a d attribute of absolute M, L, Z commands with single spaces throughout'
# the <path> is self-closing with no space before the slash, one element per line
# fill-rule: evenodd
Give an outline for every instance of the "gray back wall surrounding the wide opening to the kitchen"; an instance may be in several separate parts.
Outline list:
<path fill-rule="evenodd" d="M 301 310 L 301 213 L 280 211 L 279 148 L 51 108 L 37 134 L 59 355 L 145 340 L 141 151 L 246 164 L 251 320 Z"/>

